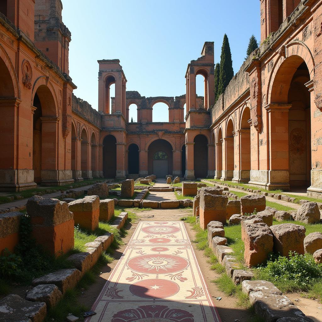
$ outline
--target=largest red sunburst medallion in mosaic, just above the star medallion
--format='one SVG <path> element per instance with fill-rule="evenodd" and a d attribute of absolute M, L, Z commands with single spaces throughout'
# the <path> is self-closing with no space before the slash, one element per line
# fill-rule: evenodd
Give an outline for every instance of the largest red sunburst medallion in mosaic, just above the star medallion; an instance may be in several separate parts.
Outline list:
<path fill-rule="evenodd" d="M 168 274 L 188 267 L 189 262 L 180 256 L 147 254 L 131 258 L 128 263 L 131 270 L 140 273 Z"/>

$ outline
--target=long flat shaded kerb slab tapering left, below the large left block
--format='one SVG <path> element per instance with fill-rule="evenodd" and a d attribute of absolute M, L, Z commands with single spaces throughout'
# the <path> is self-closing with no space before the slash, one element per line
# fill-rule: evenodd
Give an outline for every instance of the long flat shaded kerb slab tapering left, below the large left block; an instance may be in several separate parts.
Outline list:
<path fill-rule="evenodd" d="M 76 268 L 56 270 L 37 279 L 33 279 L 32 285 L 37 286 L 40 284 L 55 284 L 62 294 L 68 289 L 76 286 L 81 279 L 81 272 Z"/>

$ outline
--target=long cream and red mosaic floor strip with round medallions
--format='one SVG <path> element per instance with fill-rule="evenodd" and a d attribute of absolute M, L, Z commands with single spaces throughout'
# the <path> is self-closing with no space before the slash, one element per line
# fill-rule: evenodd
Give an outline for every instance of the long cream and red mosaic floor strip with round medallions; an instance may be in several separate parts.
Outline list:
<path fill-rule="evenodd" d="M 86 322 L 221 322 L 182 222 L 140 222 Z"/>

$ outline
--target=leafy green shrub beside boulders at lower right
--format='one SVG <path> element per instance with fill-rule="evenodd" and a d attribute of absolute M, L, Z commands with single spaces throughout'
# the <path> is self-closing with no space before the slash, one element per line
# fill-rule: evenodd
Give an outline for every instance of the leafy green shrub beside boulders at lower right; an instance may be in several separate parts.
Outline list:
<path fill-rule="evenodd" d="M 322 264 L 312 257 L 289 253 L 289 259 L 279 256 L 258 269 L 259 275 L 273 282 L 281 291 L 307 291 L 322 276 Z"/>

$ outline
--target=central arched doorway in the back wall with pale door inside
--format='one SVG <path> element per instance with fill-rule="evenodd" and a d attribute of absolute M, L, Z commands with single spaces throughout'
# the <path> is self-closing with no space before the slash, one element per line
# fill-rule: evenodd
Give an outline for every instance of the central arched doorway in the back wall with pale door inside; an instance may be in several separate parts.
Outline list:
<path fill-rule="evenodd" d="M 157 177 L 172 175 L 172 145 L 164 140 L 153 141 L 148 148 L 148 173 Z"/>

